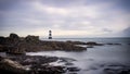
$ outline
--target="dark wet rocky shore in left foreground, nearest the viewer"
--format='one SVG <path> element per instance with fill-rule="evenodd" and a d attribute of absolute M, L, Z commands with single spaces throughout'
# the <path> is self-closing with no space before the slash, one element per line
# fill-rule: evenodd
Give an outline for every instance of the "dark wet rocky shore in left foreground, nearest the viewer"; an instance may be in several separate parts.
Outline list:
<path fill-rule="evenodd" d="M 68 61 L 69 60 L 69 61 Z M 65 65 L 53 65 L 51 62 L 64 62 Z M 10 55 L 0 57 L 0 74 L 63 74 L 66 72 L 76 73 L 80 69 L 68 64 L 74 59 L 57 57 L 40 57 L 40 55 Z"/>

